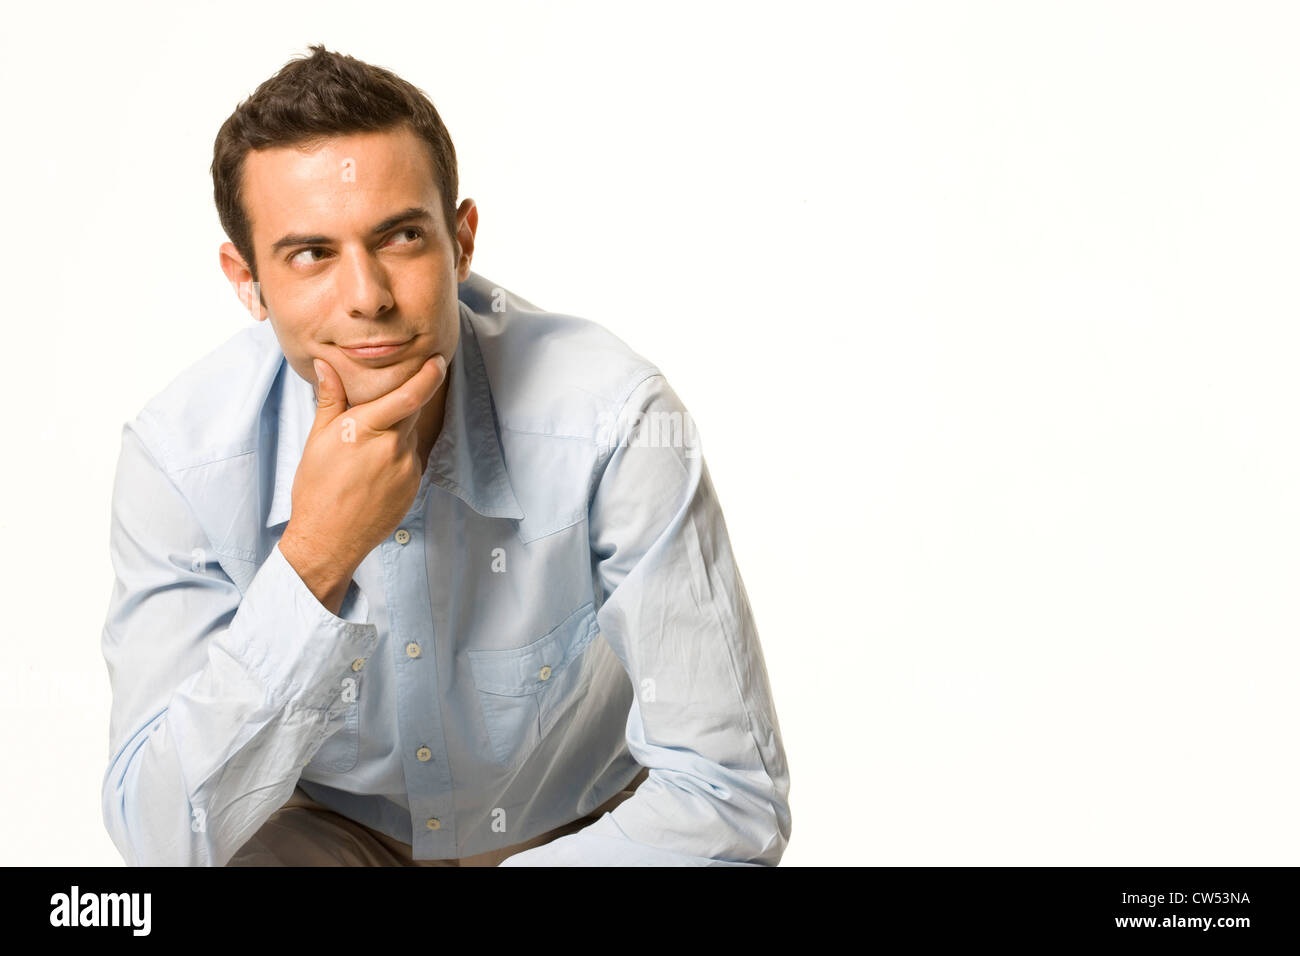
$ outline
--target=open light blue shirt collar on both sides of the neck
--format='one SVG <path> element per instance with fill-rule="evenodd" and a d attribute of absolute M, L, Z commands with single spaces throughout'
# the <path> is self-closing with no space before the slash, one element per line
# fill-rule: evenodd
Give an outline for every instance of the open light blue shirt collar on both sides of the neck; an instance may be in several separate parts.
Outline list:
<path fill-rule="evenodd" d="M 442 431 L 429 453 L 421 490 L 436 484 L 469 505 L 485 518 L 524 516 L 506 471 L 500 449 L 500 429 L 493 406 L 491 388 L 484 368 L 471 310 L 460 307 L 460 342 L 447 364 L 447 405 Z M 274 437 L 276 473 L 266 527 L 289 520 L 292 506 L 294 475 L 303 457 L 307 436 L 316 418 L 316 394 L 287 360 L 281 363 L 278 428 Z M 412 511 L 422 510 L 417 496 Z"/>

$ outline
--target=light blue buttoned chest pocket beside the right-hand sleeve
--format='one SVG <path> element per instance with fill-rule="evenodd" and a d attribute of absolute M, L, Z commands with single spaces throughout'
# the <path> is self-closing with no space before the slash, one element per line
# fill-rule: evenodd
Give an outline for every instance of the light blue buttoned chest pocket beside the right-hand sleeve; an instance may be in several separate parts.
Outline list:
<path fill-rule="evenodd" d="M 523 648 L 467 652 L 497 766 L 515 766 L 573 704 L 581 654 L 597 633 L 589 601 Z"/>

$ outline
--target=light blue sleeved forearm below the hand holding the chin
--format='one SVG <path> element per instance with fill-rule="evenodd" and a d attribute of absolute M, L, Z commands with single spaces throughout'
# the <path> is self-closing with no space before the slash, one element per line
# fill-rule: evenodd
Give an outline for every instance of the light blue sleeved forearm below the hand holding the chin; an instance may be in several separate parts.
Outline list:
<path fill-rule="evenodd" d="M 126 622 L 152 630 L 144 618 Z M 134 635 L 151 646 L 166 644 L 160 637 Z M 322 606 L 273 549 L 230 626 L 207 639 L 204 666 L 117 747 L 103 800 L 124 858 L 224 865 L 358 706 L 347 680 L 377 640 L 373 624 Z M 105 641 L 121 644 L 113 632 Z"/>

